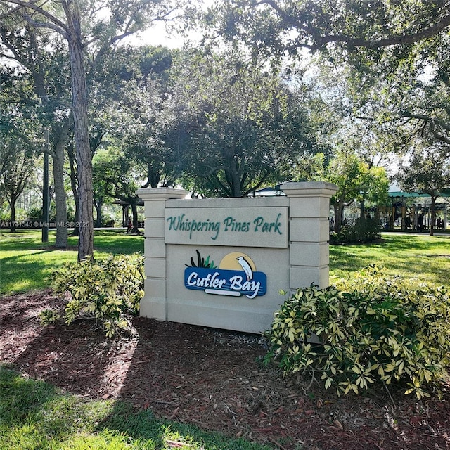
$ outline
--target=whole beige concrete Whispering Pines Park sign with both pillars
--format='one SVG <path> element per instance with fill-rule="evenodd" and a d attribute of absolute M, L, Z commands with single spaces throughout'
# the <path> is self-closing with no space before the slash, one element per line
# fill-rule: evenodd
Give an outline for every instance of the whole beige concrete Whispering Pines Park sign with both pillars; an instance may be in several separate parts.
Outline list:
<path fill-rule="evenodd" d="M 337 191 L 285 183 L 285 196 L 186 200 L 143 188 L 145 295 L 141 316 L 261 333 L 280 290 L 328 285 L 328 214 Z"/>

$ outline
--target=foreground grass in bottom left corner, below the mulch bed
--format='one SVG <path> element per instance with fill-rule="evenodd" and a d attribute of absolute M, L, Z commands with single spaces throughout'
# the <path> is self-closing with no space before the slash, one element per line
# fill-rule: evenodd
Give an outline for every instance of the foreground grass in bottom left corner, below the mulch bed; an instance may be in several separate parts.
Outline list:
<path fill-rule="evenodd" d="M 269 450 L 158 420 L 120 401 L 86 401 L 0 367 L 0 449 Z"/>

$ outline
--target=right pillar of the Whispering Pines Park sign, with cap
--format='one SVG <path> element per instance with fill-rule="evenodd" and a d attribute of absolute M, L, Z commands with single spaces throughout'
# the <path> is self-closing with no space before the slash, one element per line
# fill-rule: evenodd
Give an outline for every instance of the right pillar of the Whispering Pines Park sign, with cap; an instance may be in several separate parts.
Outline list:
<path fill-rule="evenodd" d="M 281 190 L 289 198 L 289 288 L 311 283 L 326 288 L 329 283 L 330 198 L 338 191 L 324 181 L 285 183 Z"/>

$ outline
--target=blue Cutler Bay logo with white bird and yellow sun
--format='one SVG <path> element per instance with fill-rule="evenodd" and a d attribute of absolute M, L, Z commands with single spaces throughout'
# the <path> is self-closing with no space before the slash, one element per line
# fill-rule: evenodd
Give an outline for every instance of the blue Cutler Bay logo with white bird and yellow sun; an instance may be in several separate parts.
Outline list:
<path fill-rule="evenodd" d="M 184 269 L 184 285 L 188 289 L 203 290 L 207 294 L 231 295 L 255 298 L 266 293 L 266 274 L 256 271 L 252 259 L 241 252 L 225 255 L 219 264 L 200 257 L 197 252 L 197 264 L 191 258 L 191 266 Z"/>

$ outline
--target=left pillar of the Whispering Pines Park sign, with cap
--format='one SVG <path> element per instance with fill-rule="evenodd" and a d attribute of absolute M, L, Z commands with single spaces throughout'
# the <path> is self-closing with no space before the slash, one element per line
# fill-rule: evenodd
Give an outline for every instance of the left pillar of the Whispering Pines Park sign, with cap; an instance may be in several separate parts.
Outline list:
<path fill-rule="evenodd" d="M 145 294 L 141 300 L 141 316 L 167 320 L 167 266 L 165 247 L 166 200 L 185 198 L 184 189 L 142 188 L 137 194 L 145 205 L 144 244 Z"/>

